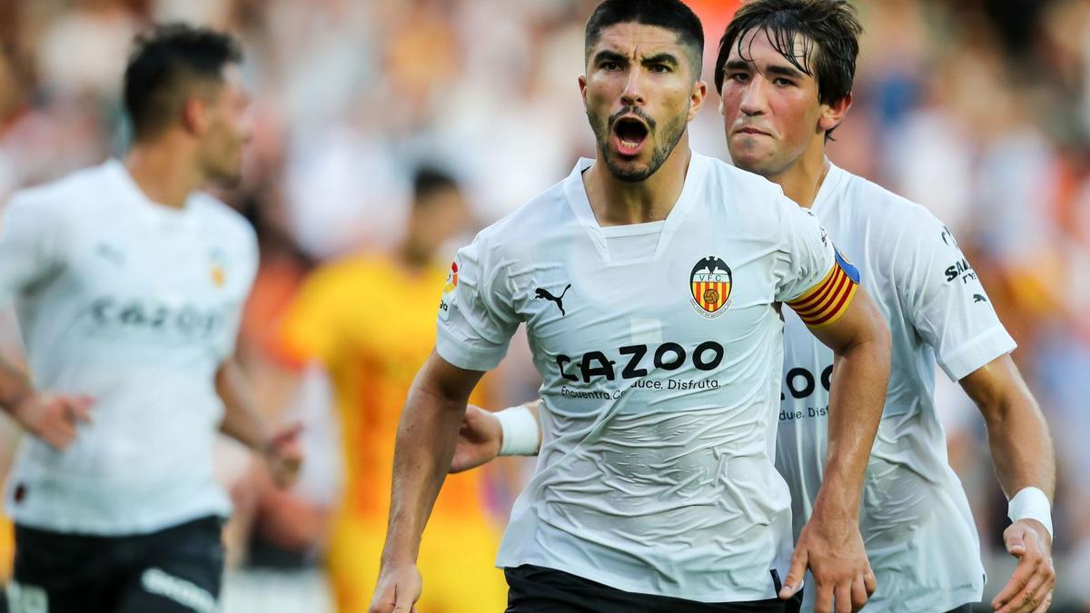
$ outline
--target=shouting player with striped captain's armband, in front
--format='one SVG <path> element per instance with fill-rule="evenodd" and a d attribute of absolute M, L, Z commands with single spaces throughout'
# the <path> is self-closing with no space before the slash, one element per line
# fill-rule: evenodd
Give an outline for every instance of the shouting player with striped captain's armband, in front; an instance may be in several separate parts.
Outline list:
<path fill-rule="evenodd" d="M 837 356 L 831 452 L 797 551 L 861 606 L 863 471 L 888 332 L 858 274 L 776 185 L 689 149 L 703 32 L 679 0 L 607 0 L 579 79 L 597 157 L 462 249 L 407 400 L 372 611 L 410 611 L 465 399 L 526 326 L 548 413 L 500 545 L 508 611 L 787 611 L 774 467 L 784 303 Z M 801 573 L 796 573 L 796 582 Z M 424 582 L 426 586 L 426 580 Z"/>

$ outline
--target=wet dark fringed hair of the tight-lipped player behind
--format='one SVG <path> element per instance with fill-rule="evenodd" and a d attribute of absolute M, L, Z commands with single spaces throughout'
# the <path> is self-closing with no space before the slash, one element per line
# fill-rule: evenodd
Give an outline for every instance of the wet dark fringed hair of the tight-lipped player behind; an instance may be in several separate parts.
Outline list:
<path fill-rule="evenodd" d="M 715 89 L 723 92 L 727 58 L 734 47 L 742 52 L 742 38 L 751 31 L 768 33 L 773 46 L 791 65 L 818 81 L 818 99 L 823 104 L 843 100 L 851 94 L 859 56 L 859 23 L 855 7 L 847 0 L 753 0 L 742 4 L 719 39 L 715 60 Z M 802 56 L 795 53 L 795 40 L 802 35 Z"/>

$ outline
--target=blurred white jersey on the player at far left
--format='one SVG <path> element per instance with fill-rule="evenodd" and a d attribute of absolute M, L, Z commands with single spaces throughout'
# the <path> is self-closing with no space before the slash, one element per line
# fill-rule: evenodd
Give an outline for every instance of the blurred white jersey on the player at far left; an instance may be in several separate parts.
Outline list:
<path fill-rule="evenodd" d="M 16 522 L 111 536 L 229 513 L 213 477 L 215 373 L 256 266 L 241 216 L 203 193 L 154 204 L 117 160 L 12 196 L 0 302 L 15 299 L 34 387 L 95 398 L 68 449 L 23 438 Z"/>

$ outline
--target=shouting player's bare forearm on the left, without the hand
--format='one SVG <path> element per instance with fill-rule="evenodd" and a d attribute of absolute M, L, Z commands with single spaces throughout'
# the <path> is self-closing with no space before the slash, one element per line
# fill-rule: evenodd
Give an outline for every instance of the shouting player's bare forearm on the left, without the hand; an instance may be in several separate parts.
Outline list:
<path fill-rule="evenodd" d="M 384 563 L 415 562 L 458 442 L 467 398 L 413 384 L 398 425 Z"/>

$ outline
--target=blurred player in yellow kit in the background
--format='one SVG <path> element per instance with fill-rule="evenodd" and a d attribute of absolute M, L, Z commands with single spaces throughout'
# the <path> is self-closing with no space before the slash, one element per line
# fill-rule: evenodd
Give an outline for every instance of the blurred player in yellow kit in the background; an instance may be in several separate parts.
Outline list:
<path fill-rule="evenodd" d="M 467 226 L 469 211 L 449 177 L 421 170 L 405 238 L 391 255 L 365 255 L 318 269 L 289 308 L 280 346 L 296 363 L 329 373 L 341 421 L 346 482 L 329 543 L 341 613 L 371 602 L 386 536 L 393 442 L 401 406 L 435 345 L 435 308 L 457 283 L 435 251 Z M 428 578 L 417 610 L 502 611 L 507 585 L 494 567 L 500 527 L 484 505 L 484 478 L 447 479 L 420 552 Z"/>

